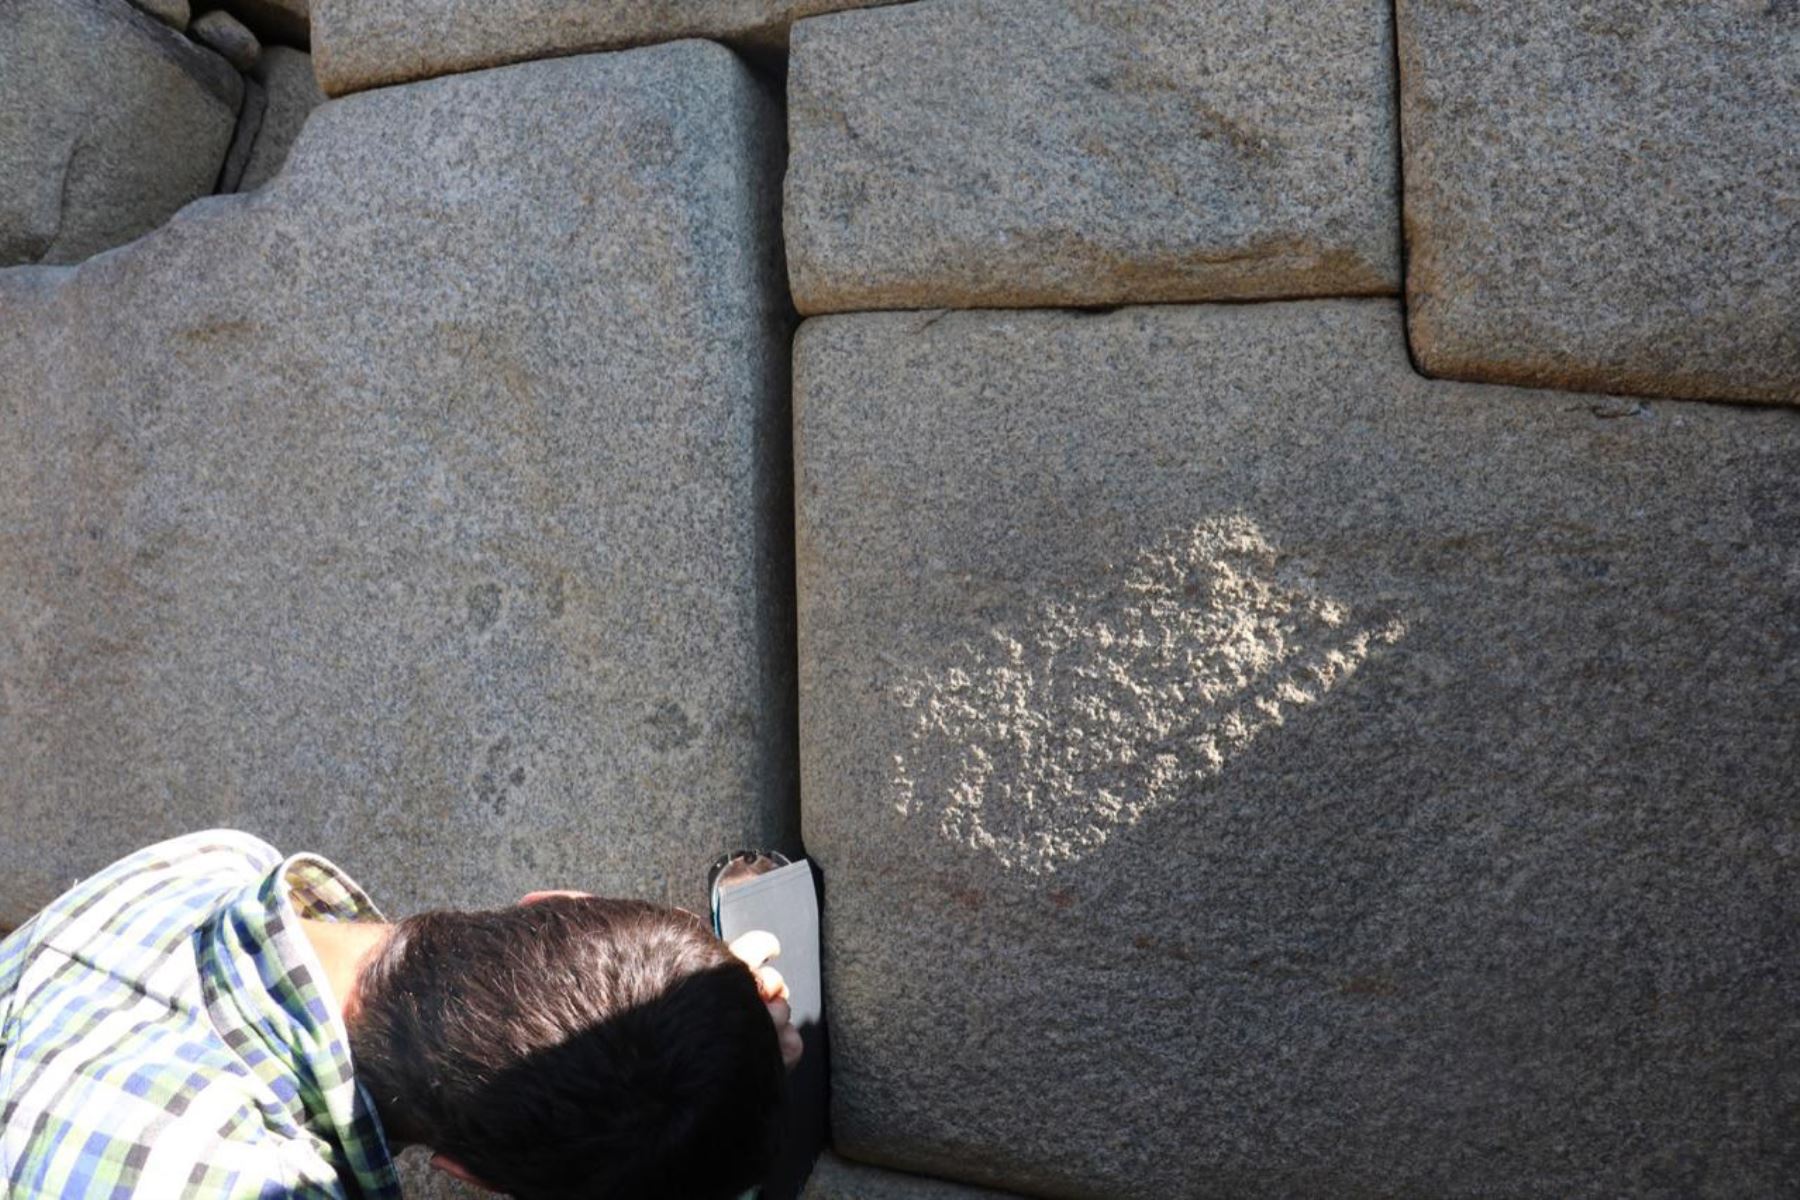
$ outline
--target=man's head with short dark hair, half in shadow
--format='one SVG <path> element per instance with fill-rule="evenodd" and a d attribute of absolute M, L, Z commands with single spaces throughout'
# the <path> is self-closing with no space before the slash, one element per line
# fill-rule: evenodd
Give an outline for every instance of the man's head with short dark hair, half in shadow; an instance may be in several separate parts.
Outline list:
<path fill-rule="evenodd" d="M 407 918 L 346 1018 L 389 1135 L 499 1191 L 706 1200 L 767 1168 L 776 1027 L 686 912 L 549 896 Z"/>

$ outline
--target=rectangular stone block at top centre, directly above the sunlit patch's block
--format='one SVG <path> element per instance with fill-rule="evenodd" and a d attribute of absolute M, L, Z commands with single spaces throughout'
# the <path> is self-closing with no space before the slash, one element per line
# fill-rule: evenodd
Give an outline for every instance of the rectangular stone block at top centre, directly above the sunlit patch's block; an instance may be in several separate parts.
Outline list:
<path fill-rule="evenodd" d="M 1400 290 L 1386 0 L 936 0 L 794 31 L 805 313 Z"/>

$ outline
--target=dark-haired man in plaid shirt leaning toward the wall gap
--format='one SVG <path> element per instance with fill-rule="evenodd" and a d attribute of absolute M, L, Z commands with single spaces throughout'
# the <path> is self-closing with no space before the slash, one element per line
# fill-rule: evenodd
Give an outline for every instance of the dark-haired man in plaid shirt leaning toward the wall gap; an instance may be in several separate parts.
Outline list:
<path fill-rule="evenodd" d="M 162 842 L 0 941 L 0 1195 L 389 1200 L 425 1146 L 522 1200 L 736 1196 L 799 1058 L 772 943 L 578 892 L 387 923 L 317 855 Z"/>

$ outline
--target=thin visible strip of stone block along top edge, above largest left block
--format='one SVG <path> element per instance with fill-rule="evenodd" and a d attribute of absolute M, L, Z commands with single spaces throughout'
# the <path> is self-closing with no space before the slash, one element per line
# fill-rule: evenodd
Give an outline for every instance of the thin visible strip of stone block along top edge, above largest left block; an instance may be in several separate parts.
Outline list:
<path fill-rule="evenodd" d="M 317 0 L 313 54 L 328 95 L 556 54 L 675 38 L 787 45 L 814 13 L 895 0 Z"/>

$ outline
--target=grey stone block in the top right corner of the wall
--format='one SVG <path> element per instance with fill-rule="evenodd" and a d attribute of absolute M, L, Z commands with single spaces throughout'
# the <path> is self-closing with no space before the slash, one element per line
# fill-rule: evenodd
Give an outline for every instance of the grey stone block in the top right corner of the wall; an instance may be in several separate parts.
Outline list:
<path fill-rule="evenodd" d="M 1800 4 L 1400 0 L 1429 374 L 1800 403 Z"/>

